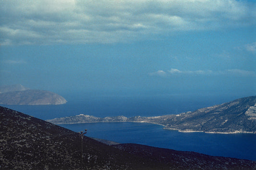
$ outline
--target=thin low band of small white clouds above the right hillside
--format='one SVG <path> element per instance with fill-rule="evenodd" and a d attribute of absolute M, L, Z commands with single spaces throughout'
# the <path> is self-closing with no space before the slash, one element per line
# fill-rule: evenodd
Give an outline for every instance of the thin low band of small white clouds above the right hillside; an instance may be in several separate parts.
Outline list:
<path fill-rule="evenodd" d="M 171 68 L 171 70 L 165 72 L 163 70 L 158 70 L 157 72 L 149 73 L 150 76 L 160 76 L 160 77 L 171 77 L 171 76 L 239 76 L 239 77 L 250 77 L 256 76 L 254 71 L 247 71 L 243 69 L 227 69 L 223 71 L 212 71 L 212 70 L 185 70 L 181 71 L 179 69 Z"/>

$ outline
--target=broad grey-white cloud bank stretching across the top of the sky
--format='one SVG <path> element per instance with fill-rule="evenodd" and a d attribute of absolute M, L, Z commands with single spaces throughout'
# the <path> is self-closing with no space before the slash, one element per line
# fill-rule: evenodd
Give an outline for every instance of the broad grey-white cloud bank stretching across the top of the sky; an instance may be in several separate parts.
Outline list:
<path fill-rule="evenodd" d="M 253 3 L 253 2 L 252 2 Z M 236 0 L 1 0 L 0 44 L 85 44 L 255 24 Z"/>

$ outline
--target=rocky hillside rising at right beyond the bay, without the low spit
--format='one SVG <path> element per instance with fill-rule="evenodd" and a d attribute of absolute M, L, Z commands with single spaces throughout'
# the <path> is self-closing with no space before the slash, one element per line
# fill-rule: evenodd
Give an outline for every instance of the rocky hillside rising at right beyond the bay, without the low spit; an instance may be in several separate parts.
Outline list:
<path fill-rule="evenodd" d="M 181 113 L 162 124 L 180 131 L 256 133 L 256 96 Z"/>

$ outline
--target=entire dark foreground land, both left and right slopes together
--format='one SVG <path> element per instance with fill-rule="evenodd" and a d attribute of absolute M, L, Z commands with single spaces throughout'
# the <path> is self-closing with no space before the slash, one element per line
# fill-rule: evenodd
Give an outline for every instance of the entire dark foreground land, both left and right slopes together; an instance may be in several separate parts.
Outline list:
<path fill-rule="evenodd" d="M 0 169 L 80 169 L 81 137 L 78 133 L 4 107 L 0 107 L 0 127 Z M 86 136 L 82 162 L 83 169 L 87 170 L 256 168 L 256 161 L 137 144 L 109 146 Z"/>

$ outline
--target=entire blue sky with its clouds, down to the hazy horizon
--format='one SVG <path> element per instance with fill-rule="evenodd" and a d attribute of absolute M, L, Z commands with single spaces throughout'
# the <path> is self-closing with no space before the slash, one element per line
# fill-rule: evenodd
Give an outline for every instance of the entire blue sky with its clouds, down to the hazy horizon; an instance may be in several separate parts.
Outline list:
<path fill-rule="evenodd" d="M 0 0 L 0 86 L 256 95 L 255 0 Z"/>

